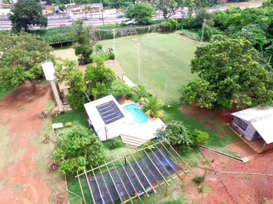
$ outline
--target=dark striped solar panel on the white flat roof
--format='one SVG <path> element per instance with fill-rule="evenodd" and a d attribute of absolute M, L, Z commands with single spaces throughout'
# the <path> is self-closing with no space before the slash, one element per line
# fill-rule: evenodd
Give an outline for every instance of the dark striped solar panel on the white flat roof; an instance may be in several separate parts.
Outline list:
<path fill-rule="evenodd" d="M 114 101 L 103 103 L 99 106 L 96 106 L 96 108 L 105 125 L 115 122 L 120 118 L 124 117 Z"/>

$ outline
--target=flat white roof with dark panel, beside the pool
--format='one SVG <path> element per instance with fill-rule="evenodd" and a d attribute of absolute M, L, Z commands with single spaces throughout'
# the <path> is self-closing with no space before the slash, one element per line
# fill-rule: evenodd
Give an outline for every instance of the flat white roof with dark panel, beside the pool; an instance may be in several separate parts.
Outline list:
<path fill-rule="evenodd" d="M 123 109 L 113 95 L 86 103 L 84 108 L 96 131 L 104 128 L 105 125 L 122 121 L 125 118 Z"/>

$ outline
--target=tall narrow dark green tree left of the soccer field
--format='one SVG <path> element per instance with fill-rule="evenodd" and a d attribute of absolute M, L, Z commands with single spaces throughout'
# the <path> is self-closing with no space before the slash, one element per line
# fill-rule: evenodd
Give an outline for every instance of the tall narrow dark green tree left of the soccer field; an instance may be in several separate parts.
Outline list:
<path fill-rule="evenodd" d="M 91 41 L 91 27 L 84 26 L 81 19 L 72 23 L 75 41 L 74 50 L 75 55 L 78 56 L 79 65 L 88 64 L 92 62 L 91 54 L 93 52 L 94 42 Z"/>

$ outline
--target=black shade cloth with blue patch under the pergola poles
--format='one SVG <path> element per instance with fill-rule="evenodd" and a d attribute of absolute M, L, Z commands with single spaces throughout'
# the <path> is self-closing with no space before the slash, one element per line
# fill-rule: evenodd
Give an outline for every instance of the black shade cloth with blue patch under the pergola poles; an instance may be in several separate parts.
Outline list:
<path fill-rule="evenodd" d="M 154 156 L 154 154 L 156 156 Z M 173 174 L 175 171 L 181 170 L 181 168 L 176 166 L 174 164 L 174 162 L 168 157 L 168 155 L 166 154 L 166 152 L 164 151 L 164 149 L 162 147 L 159 148 L 158 150 L 154 151 L 154 154 L 149 153 L 148 155 L 149 155 L 150 159 L 152 159 L 152 161 L 156 164 L 158 170 L 161 172 L 163 177 L 168 177 L 169 174 Z M 130 163 L 131 167 L 136 172 L 137 177 L 139 178 L 140 182 L 142 183 L 142 185 L 144 187 L 150 187 L 150 185 L 149 185 L 147 179 L 144 177 L 142 171 L 144 172 L 144 174 L 148 178 L 149 182 L 152 184 L 156 183 L 157 181 L 162 180 L 162 176 L 160 175 L 160 173 L 158 172 L 156 167 L 153 166 L 150 159 L 148 158 L 148 156 L 145 156 L 145 157 L 142 157 L 142 159 L 140 158 L 140 159 Z M 160 160 L 160 162 L 158 161 L 158 159 Z M 138 167 L 136 162 L 141 167 L 142 171 Z M 120 197 L 127 196 L 128 195 L 127 192 L 129 194 L 132 194 L 132 193 L 135 193 L 135 190 L 136 191 L 141 190 L 142 189 L 141 183 L 138 181 L 138 179 L 135 176 L 134 172 L 132 171 L 131 167 L 129 164 L 124 165 L 124 168 L 118 167 L 117 171 L 118 171 L 119 175 L 115 169 L 111 170 L 110 172 L 102 173 L 104 180 L 106 181 L 106 185 L 109 189 L 110 194 L 105 186 L 102 174 L 96 175 L 96 180 L 99 183 L 99 185 L 97 185 L 97 182 L 95 181 L 94 176 L 88 177 L 88 181 L 89 181 L 90 187 L 92 189 L 95 203 L 103 203 L 100 193 L 99 193 L 99 189 L 100 189 L 100 192 L 101 192 L 101 195 L 102 195 L 102 198 L 103 198 L 105 204 L 112 203 L 111 197 L 112 197 L 113 201 L 117 201 L 120 199 Z M 126 173 L 130 177 L 131 182 L 134 185 L 134 187 L 132 186 L 131 182 L 129 181 Z M 115 184 L 111 180 L 110 174 L 111 174 Z M 123 184 L 125 185 L 126 189 L 124 188 L 122 182 L 120 181 L 119 176 L 121 177 L 121 180 L 122 180 Z M 84 179 L 84 181 L 85 181 L 86 185 L 88 186 L 87 179 Z M 99 188 L 98 188 L 98 186 L 99 186 Z M 115 186 L 117 187 L 120 195 L 116 191 Z M 126 190 L 127 190 L 127 192 L 126 192 Z M 89 190 L 89 193 L 90 193 L 90 197 L 91 197 L 90 190 Z"/>

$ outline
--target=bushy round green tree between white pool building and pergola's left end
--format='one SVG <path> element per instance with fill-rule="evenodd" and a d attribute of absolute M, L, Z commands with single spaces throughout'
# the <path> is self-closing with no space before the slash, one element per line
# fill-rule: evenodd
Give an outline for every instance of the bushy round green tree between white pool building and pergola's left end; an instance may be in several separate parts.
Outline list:
<path fill-rule="evenodd" d="M 89 129 L 83 126 L 72 128 L 67 134 L 57 135 L 57 150 L 53 158 L 63 174 L 83 171 L 86 167 L 98 166 L 105 157 L 103 144 Z"/>

